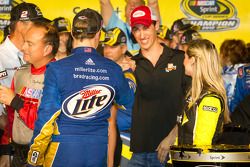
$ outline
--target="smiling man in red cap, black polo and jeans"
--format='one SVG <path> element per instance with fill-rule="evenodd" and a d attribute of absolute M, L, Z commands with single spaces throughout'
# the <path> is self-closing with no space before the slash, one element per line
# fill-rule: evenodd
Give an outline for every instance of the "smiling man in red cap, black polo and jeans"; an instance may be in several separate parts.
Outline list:
<path fill-rule="evenodd" d="M 130 143 L 133 156 L 129 166 L 160 167 L 165 165 L 168 152 L 166 136 L 176 124 L 188 84 L 184 75 L 184 52 L 159 43 L 159 24 L 149 7 L 135 8 L 130 22 L 141 49 L 133 58 L 137 88 Z"/>

